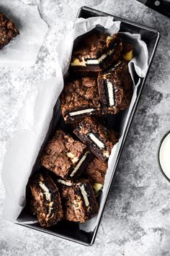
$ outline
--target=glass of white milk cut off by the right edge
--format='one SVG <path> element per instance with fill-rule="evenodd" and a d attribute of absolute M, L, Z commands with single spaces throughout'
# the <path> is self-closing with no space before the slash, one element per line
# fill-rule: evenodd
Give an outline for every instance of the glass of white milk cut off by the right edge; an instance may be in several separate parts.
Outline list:
<path fill-rule="evenodd" d="M 158 145 L 158 166 L 170 182 L 170 130 L 166 132 Z"/>

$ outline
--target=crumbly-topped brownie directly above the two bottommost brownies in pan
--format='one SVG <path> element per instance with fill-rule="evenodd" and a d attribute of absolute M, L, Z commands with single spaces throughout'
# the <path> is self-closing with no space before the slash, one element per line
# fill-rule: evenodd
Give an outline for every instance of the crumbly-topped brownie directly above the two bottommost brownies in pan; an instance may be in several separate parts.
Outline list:
<path fill-rule="evenodd" d="M 86 145 L 59 129 L 42 153 L 41 164 L 63 179 L 76 179 L 90 160 Z"/>

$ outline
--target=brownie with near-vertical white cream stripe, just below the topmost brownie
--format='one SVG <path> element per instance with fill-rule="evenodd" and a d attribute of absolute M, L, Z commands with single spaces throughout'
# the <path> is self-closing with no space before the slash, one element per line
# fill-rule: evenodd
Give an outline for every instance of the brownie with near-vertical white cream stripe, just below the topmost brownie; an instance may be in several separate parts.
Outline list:
<path fill-rule="evenodd" d="M 133 94 L 128 61 L 117 61 L 109 70 L 100 72 L 98 89 L 104 114 L 117 114 L 128 108 Z"/>

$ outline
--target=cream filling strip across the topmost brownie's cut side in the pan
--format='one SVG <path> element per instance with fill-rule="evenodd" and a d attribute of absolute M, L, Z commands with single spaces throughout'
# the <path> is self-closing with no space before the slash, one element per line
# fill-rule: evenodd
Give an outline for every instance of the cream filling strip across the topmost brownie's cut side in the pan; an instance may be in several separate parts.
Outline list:
<path fill-rule="evenodd" d="M 87 59 L 86 61 L 84 57 L 82 57 L 82 61 L 79 61 L 79 59 L 75 59 L 73 62 L 71 62 L 71 66 L 86 66 L 86 64 L 99 64 L 107 57 L 107 55 L 112 54 L 113 51 L 114 49 L 109 50 L 107 54 L 102 54 L 102 56 L 99 57 L 99 59 Z"/>

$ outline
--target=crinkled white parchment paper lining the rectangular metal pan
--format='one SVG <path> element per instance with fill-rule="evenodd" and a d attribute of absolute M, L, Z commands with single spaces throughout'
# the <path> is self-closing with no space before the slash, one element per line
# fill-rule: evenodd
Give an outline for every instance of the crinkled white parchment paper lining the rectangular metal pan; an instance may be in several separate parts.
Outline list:
<path fill-rule="evenodd" d="M 71 33 L 69 33 L 57 47 L 58 60 L 61 65 L 63 75 L 68 71 L 71 52 L 73 49 L 73 41 L 79 35 L 89 32 L 96 26 L 97 29 L 105 27 L 107 32 L 109 31 L 110 34 L 113 34 L 119 31 L 120 22 L 114 22 L 112 17 L 91 17 L 86 20 L 76 20 Z M 135 70 L 138 76 L 145 77 L 148 67 L 148 51 L 146 44 L 140 40 L 139 35 L 130 34 L 126 36 L 128 36 L 130 40 L 132 38 L 135 52 L 138 51 L 138 58 L 134 57 L 133 60 L 130 61 L 130 74 L 133 78 Z M 19 123 L 25 130 L 22 134 L 14 137 L 12 142 L 9 144 L 9 148 L 4 159 L 4 168 L 2 173 L 6 189 L 6 200 L 4 202 L 3 211 L 3 218 L 5 219 L 16 221 L 17 216 L 19 216 L 19 213 L 21 213 L 22 208 L 24 207 L 27 180 L 31 174 L 32 166 L 35 163 L 40 146 L 45 138 L 45 132 L 47 132 L 48 125 L 50 123 L 53 106 L 57 101 L 58 95 L 63 89 L 63 76 L 60 72 L 58 73 L 58 67 L 56 70 L 58 76 L 55 79 L 53 78 L 52 80 L 42 82 L 42 84 L 40 83 L 37 86 L 37 90 L 28 95 L 22 111 L 19 114 Z M 122 137 L 128 124 L 128 118 L 136 100 L 136 92 L 139 83 L 140 78 L 133 86 L 133 98 L 130 103 L 130 107 L 124 111 L 124 115 L 122 117 L 120 141 L 112 149 L 112 154 L 109 157 L 109 166 L 100 199 L 99 213 L 102 211 L 104 201 L 107 197 L 108 184 L 110 183 L 113 175 L 113 168 L 117 161 L 117 155 L 122 143 Z M 86 221 L 84 224 L 80 224 L 80 229 L 93 231 L 96 227 L 99 215 L 100 214 L 95 218 Z M 21 222 L 22 220 L 19 221 Z M 27 221 L 30 223 L 32 218 L 25 217 L 22 222 L 25 223 Z"/>

